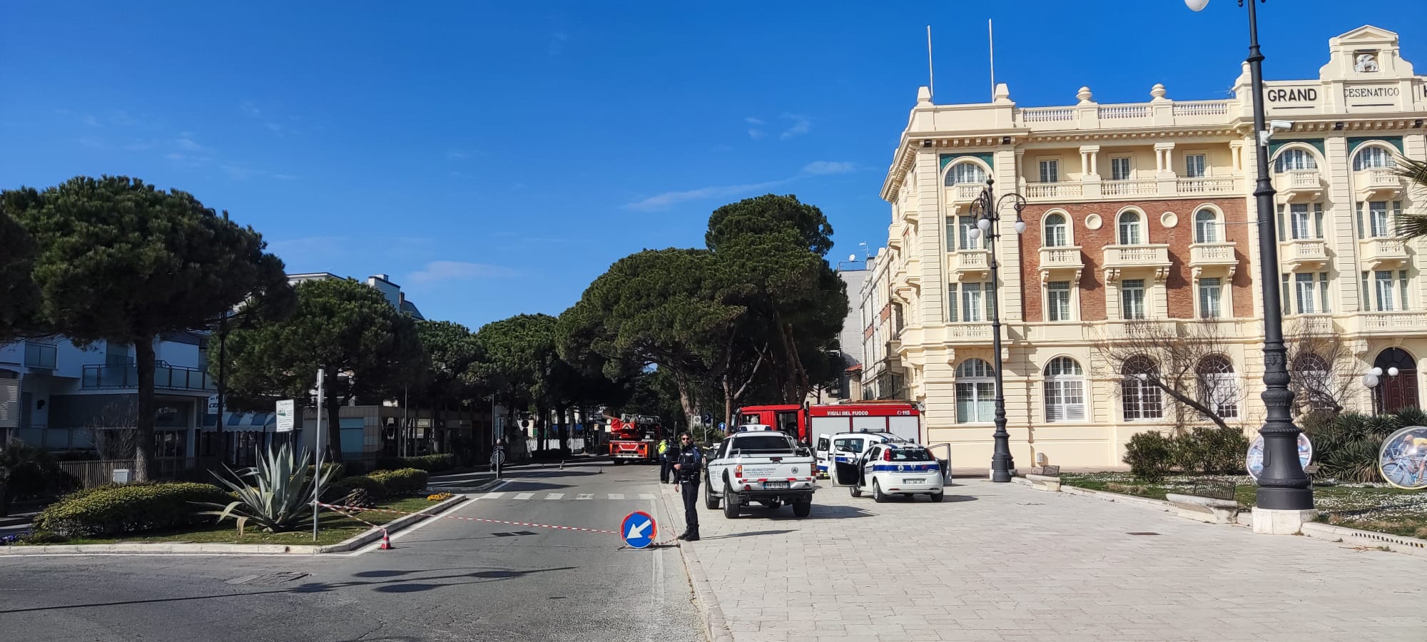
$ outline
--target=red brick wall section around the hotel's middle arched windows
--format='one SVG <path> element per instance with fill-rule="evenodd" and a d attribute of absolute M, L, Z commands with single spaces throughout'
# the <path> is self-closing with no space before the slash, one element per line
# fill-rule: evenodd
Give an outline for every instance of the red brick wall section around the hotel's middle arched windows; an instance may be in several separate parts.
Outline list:
<path fill-rule="evenodd" d="M 1239 268 L 1232 280 L 1232 294 L 1234 317 L 1249 317 L 1253 314 L 1253 265 L 1249 263 L 1249 228 L 1247 205 L 1243 198 L 1212 198 L 1212 200 L 1170 200 L 1170 201 L 1100 201 L 1100 203 L 1066 203 L 1066 204 L 1033 204 L 1022 215 L 1026 221 L 1026 233 L 1020 237 L 1020 265 L 1022 265 L 1022 305 L 1026 310 L 1026 321 L 1045 321 L 1040 301 L 1040 218 L 1050 210 L 1065 210 L 1070 214 L 1072 235 L 1076 245 L 1080 245 L 1085 271 L 1080 272 L 1080 318 L 1085 321 L 1104 321 L 1104 272 L 1100 270 L 1104 263 L 1104 245 L 1114 244 L 1116 224 L 1114 215 L 1124 207 L 1137 207 L 1149 220 L 1149 243 L 1167 243 L 1170 272 L 1166 281 L 1169 291 L 1169 315 L 1172 318 L 1192 318 L 1194 315 L 1194 290 L 1192 272 L 1189 270 L 1189 244 L 1194 240 L 1194 210 L 1200 205 L 1216 205 L 1224 213 L 1224 238 L 1234 244 L 1234 255 L 1239 258 Z M 1166 211 L 1173 211 L 1179 223 L 1173 228 L 1164 227 L 1160 221 Z M 1099 214 L 1102 225 L 1099 230 L 1085 227 L 1085 217 Z"/>

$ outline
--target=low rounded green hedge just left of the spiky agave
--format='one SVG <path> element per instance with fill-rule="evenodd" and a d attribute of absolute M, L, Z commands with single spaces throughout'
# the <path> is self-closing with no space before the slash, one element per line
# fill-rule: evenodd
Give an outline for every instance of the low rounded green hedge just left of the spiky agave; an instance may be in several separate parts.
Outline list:
<path fill-rule="evenodd" d="M 180 528 L 203 521 L 198 504 L 231 499 L 213 484 L 106 485 L 66 495 L 34 516 L 34 528 L 70 538 Z"/>

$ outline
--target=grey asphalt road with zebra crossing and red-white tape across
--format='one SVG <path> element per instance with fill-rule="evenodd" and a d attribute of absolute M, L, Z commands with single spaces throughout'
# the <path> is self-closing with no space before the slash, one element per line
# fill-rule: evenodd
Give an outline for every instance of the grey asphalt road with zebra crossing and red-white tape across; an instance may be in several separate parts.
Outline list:
<path fill-rule="evenodd" d="M 508 479 L 447 515 L 609 531 L 631 511 L 664 518 L 655 467 L 589 462 Z M 672 546 L 458 519 L 427 521 L 394 544 L 348 556 L 6 558 L 0 641 L 704 639 Z"/>

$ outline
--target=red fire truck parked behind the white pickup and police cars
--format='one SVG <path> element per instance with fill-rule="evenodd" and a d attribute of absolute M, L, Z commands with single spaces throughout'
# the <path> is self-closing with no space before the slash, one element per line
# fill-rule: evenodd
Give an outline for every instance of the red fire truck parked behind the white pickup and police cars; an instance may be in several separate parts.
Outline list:
<path fill-rule="evenodd" d="M 745 405 L 735 417 L 736 424 L 769 425 L 802 444 L 812 444 L 815 435 L 838 432 L 890 432 L 915 444 L 920 444 L 923 438 L 922 409 L 910 401 Z"/>

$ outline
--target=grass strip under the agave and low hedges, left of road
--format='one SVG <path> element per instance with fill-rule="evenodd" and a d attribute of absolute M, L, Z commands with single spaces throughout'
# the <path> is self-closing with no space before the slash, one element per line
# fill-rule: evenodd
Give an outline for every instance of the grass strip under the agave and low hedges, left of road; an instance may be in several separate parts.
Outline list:
<path fill-rule="evenodd" d="M 420 512 L 425 511 L 438 502 L 428 501 L 425 495 L 410 496 L 401 499 L 385 499 L 377 502 L 375 508 L 385 508 L 390 511 L 407 511 Z M 402 515 L 395 512 L 377 512 L 377 511 L 362 511 L 354 514 L 372 524 L 387 524 Z M 318 518 L 318 532 L 317 541 L 313 541 L 313 525 L 308 522 L 305 531 L 295 532 L 261 532 L 254 528 L 247 528 L 241 536 L 238 536 L 238 529 L 234 526 L 233 519 L 225 519 L 223 524 L 204 524 L 197 525 L 184 531 L 167 531 L 167 532 L 147 532 L 147 534 L 126 534 L 114 536 L 94 536 L 94 538 L 74 538 L 64 544 L 144 544 L 144 542 L 168 542 L 168 544 L 288 544 L 294 546 L 325 546 L 330 544 L 340 544 L 354 535 L 360 535 L 367 531 L 368 525 L 358 522 L 350 516 L 335 514 L 332 511 L 324 509 Z"/>

